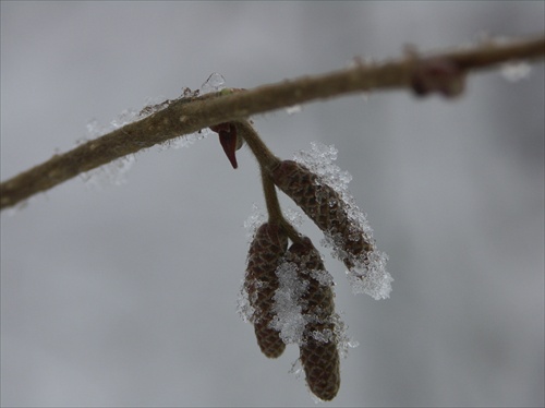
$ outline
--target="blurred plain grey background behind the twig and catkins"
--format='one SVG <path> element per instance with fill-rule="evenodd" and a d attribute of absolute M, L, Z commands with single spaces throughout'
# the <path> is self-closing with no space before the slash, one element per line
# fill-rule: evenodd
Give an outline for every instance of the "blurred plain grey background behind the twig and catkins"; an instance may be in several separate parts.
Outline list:
<path fill-rule="evenodd" d="M 537 34 L 544 4 L 2 1 L 1 178 L 213 72 L 251 88 L 405 44 Z M 283 158 L 336 145 L 390 256 L 382 301 L 326 257 L 360 343 L 326 406 L 544 405 L 543 109 L 540 63 L 518 83 L 472 75 L 456 101 L 388 92 L 254 118 Z M 122 185 L 76 178 L 2 212 L 2 406 L 314 406 L 296 347 L 267 360 L 237 314 L 244 220 L 264 206 L 238 158 L 215 136 L 152 148 Z"/>

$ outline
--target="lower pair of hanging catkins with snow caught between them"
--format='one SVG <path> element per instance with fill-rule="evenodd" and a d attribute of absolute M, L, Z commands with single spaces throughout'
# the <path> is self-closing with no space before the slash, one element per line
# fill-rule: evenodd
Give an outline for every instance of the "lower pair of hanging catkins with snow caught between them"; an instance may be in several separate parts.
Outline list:
<path fill-rule="evenodd" d="M 349 345 L 335 312 L 332 277 L 311 240 L 301 236 L 288 248 L 283 228 L 264 223 L 254 235 L 239 312 L 254 325 L 257 344 L 268 358 L 296 344 L 306 383 L 323 400 L 340 386 L 340 356 Z"/>

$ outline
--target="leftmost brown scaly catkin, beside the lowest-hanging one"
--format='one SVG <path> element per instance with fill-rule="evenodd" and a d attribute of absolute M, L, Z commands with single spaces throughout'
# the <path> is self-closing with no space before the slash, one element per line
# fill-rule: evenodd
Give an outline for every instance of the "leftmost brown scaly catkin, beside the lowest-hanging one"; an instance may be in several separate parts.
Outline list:
<path fill-rule="evenodd" d="M 276 269 L 288 248 L 288 237 L 282 229 L 265 223 L 255 232 L 247 255 L 244 289 L 254 309 L 252 323 L 262 352 L 268 358 L 279 357 L 286 344 L 279 333 L 269 327 L 272 320 L 272 297 L 278 289 Z"/>

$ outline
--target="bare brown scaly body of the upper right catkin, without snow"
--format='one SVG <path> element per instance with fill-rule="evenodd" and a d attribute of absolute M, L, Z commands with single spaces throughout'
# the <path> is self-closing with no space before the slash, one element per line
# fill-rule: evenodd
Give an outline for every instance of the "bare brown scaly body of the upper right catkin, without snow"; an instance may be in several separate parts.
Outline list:
<path fill-rule="evenodd" d="M 346 252 L 344 265 L 351 269 L 356 260 L 365 260 L 374 250 L 373 241 L 348 216 L 347 204 L 329 185 L 306 167 L 283 160 L 271 170 L 275 184 L 290 196 L 303 212 Z"/>

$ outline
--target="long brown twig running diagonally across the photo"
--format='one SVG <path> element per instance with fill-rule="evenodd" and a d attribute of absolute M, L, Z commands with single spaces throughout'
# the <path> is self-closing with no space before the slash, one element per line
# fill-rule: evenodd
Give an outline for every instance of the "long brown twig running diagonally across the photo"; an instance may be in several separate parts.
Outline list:
<path fill-rule="evenodd" d="M 452 71 L 456 71 L 456 81 L 459 81 L 468 72 L 494 68 L 508 61 L 542 59 L 544 55 L 544 36 L 512 41 L 491 40 L 470 49 L 429 57 L 422 57 L 413 51 L 398 60 L 383 63 L 358 61 L 353 67 L 331 73 L 303 76 L 244 92 L 177 99 L 149 117 L 64 154 L 55 155 L 44 164 L 3 181 L 0 183 L 0 209 L 120 157 L 221 122 L 241 120 L 316 99 L 374 89 L 409 88 L 420 94 L 437 91 L 446 96 L 453 96 L 456 93 L 451 89 L 458 91 L 459 87 L 444 83 L 455 80 L 448 77 L 452 75 Z M 433 62 L 431 68 L 422 70 L 429 62 Z M 423 79 L 417 76 L 423 74 L 435 75 L 431 82 L 424 77 L 424 88 Z"/>

